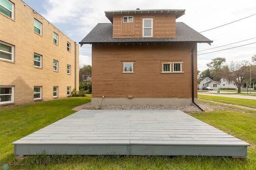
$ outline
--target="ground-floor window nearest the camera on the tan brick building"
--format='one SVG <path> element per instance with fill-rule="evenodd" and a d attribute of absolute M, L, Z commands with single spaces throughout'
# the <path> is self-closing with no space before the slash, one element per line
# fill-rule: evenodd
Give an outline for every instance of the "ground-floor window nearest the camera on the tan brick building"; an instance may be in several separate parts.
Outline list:
<path fill-rule="evenodd" d="M 0 104 L 14 102 L 14 86 L 0 86 Z"/>

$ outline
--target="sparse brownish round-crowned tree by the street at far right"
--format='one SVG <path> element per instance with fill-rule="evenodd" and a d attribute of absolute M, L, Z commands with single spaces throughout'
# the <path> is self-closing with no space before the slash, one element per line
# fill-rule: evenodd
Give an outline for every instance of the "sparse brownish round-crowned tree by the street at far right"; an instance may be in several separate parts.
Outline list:
<path fill-rule="evenodd" d="M 250 78 L 250 62 L 244 61 L 232 61 L 229 65 L 222 67 L 222 77 L 228 80 L 228 82 L 234 82 L 238 88 L 238 93 L 241 92 L 241 87 L 244 80 Z"/>

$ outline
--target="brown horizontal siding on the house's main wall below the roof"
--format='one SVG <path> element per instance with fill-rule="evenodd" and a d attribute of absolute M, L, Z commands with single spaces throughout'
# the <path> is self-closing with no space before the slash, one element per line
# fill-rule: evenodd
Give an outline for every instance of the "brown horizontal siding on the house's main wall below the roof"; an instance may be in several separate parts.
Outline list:
<path fill-rule="evenodd" d="M 92 97 L 192 98 L 191 50 L 194 45 L 92 45 Z M 197 98 L 196 53 L 194 60 Z M 131 61 L 134 73 L 122 73 L 122 63 Z M 184 73 L 161 73 L 161 63 L 166 61 L 183 62 Z"/>

